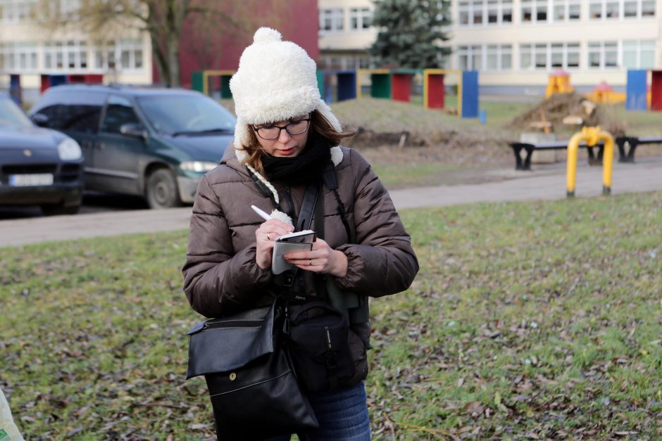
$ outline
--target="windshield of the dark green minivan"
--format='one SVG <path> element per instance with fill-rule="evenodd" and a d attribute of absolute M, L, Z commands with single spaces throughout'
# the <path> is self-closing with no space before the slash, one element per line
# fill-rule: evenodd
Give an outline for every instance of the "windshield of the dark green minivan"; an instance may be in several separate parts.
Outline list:
<path fill-rule="evenodd" d="M 141 96 L 137 101 L 146 119 L 158 132 L 232 132 L 235 128 L 232 113 L 202 94 Z"/>

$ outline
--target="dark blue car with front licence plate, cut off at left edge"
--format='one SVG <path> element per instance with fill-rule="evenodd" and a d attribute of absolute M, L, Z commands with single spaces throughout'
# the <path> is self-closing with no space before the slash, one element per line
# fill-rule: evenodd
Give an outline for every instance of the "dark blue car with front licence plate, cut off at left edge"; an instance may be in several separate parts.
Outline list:
<path fill-rule="evenodd" d="M 82 163 L 76 141 L 35 126 L 0 96 L 0 205 L 39 205 L 44 215 L 78 212 Z"/>

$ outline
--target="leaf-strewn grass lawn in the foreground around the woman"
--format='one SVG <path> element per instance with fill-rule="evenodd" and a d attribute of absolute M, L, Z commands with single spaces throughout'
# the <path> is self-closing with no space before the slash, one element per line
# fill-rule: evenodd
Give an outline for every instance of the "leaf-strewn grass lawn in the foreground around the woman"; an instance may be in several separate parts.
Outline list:
<path fill-rule="evenodd" d="M 402 212 L 372 303 L 375 440 L 662 437 L 662 193 Z M 0 385 L 30 440 L 211 439 L 185 231 L 5 248 Z"/>

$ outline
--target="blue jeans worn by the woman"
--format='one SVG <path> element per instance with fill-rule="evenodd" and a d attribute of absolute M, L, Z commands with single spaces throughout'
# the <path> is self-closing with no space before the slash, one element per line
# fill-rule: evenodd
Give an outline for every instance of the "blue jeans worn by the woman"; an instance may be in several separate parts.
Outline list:
<path fill-rule="evenodd" d="M 320 427 L 298 433 L 301 441 L 370 441 L 366 385 L 358 383 L 333 392 L 308 394 Z M 287 441 L 291 435 L 268 441 Z"/>

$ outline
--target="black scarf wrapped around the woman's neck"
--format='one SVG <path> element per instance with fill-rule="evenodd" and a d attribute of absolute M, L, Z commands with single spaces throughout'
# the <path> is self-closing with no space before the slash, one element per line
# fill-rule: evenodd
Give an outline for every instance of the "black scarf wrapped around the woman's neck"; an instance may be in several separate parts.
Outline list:
<path fill-rule="evenodd" d="M 316 132 L 310 133 L 306 147 L 294 158 L 276 158 L 262 154 L 262 165 L 269 181 L 305 185 L 320 179 L 331 160 L 329 142 Z"/>

